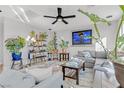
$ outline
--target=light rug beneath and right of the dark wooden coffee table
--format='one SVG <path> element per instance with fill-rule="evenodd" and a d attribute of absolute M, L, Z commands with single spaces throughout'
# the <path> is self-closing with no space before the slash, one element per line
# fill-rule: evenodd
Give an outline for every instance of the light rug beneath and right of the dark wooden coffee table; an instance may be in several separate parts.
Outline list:
<path fill-rule="evenodd" d="M 64 88 L 91 88 L 93 84 L 93 70 L 86 68 L 81 70 L 79 75 L 79 85 L 76 85 L 76 80 L 66 78 L 63 81 Z"/>

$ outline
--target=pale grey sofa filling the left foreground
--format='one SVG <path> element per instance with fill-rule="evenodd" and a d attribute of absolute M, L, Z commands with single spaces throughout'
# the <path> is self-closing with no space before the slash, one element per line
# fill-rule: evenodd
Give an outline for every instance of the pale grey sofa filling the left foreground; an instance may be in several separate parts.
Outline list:
<path fill-rule="evenodd" d="M 37 71 L 37 70 L 34 70 Z M 50 72 L 48 72 L 50 71 Z M 40 69 L 38 77 L 30 73 L 22 73 L 7 69 L 0 74 L 1 88 L 61 88 L 62 73 L 51 73 L 51 68 Z M 46 73 L 46 74 L 45 74 Z M 37 73 L 38 74 L 38 73 Z M 42 76 L 42 77 L 41 77 Z M 39 82 L 40 81 L 40 82 Z"/>

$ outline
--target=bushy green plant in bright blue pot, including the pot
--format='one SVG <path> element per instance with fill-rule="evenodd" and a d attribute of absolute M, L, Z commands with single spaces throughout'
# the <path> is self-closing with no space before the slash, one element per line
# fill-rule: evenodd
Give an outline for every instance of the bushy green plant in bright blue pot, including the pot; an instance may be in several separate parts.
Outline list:
<path fill-rule="evenodd" d="M 12 55 L 12 60 L 21 60 L 22 52 L 21 49 L 25 46 L 26 42 L 23 37 L 8 38 L 5 41 L 7 50 Z"/>

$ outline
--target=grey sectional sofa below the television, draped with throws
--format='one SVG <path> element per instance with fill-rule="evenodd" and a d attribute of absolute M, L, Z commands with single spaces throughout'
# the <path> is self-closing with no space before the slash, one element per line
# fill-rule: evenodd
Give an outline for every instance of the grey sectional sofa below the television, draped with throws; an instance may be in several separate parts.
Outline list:
<path fill-rule="evenodd" d="M 112 62 L 107 59 L 105 52 L 99 51 L 78 51 L 74 57 L 85 60 L 85 67 L 93 68 L 94 79 L 93 86 L 95 88 L 115 88 L 120 84 L 116 80 L 114 66 Z"/>

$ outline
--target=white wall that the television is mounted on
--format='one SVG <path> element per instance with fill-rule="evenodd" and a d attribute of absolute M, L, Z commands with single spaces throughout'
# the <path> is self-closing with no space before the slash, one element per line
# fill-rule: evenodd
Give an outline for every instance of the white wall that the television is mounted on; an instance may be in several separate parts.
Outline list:
<path fill-rule="evenodd" d="M 113 49 L 114 48 L 114 41 L 115 41 L 115 29 L 117 28 L 117 21 L 113 21 L 110 26 L 105 25 L 105 24 L 99 24 L 98 28 L 100 29 L 101 37 L 106 37 L 107 38 L 107 43 L 106 46 L 108 49 Z M 87 30 L 87 29 L 93 29 L 93 36 L 95 35 L 94 28 L 93 26 L 82 26 L 80 28 L 75 28 L 73 30 L 68 30 L 66 28 L 60 30 L 60 31 L 55 31 L 57 32 L 57 37 L 63 37 L 65 40 L 69 41 L 69 48 L 68 51 L 71 56 L 75 55 L 78 50 L 95 50 L 95 41 L 91 45 L 78 45 L 78 46 L 72 46 L 72 31 L 79 31 L 79 30 Z M 54 31 L 54 30 L 53 30 Z"/>

